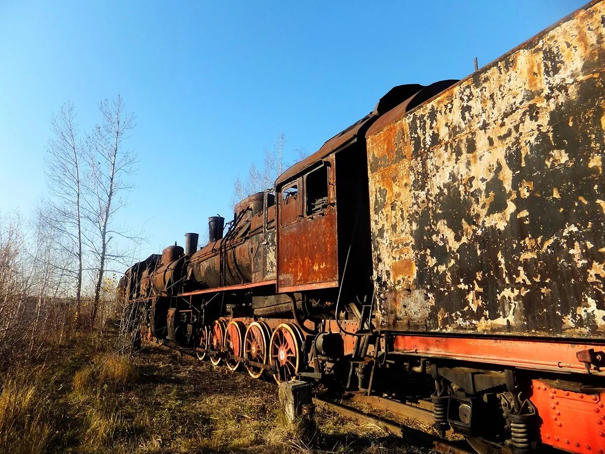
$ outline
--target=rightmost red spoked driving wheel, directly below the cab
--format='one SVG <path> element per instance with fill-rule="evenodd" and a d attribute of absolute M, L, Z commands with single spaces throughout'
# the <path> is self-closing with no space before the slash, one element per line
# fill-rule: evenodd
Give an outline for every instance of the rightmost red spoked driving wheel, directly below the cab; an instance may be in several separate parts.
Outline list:
<path fill-rule="evenodd" d="M 292 380 L 302 367 L 300 361 L 302 332 L 293 323 L 282 323 L 275 328 L 271 336 L 269 358 L 276 367 L 273 378 L 277 383 Z"/>

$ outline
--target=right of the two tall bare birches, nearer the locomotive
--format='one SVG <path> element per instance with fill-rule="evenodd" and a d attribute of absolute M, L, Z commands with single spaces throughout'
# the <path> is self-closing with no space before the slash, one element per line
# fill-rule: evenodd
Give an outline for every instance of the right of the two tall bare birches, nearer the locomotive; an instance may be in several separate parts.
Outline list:
<path fill-rule="evenodd" d="M 122 97 L 113 102 L 104 100 L 99 105 L 102 122 L 94 128 L 88 144 L 91 157 L 91 200 L 87 202 L 87 219 L 93 225 L 88 243 L 94 260 L 94 292 L 90 308 L 90 323 L 99 310 L 103 280 L 108 262 L 118 260 L 121 254 L 114 246 L 119 237 L 132 237 L 114 228 L 116 212 L 126 205 L 125 192 L 133 186 L 128 176 L 133 171 L 136 157 L 123 145 L 134 128 L 134 114 L 124 111 Z"/>

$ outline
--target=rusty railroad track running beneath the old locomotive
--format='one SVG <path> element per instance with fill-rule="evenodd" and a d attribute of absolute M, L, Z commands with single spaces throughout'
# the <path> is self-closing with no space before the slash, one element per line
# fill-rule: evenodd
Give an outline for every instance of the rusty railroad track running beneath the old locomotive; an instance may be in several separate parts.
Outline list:
<path fill-rule="evenodd" d="M 195 363 L 201 363 L 201 361 L 195 357 L 194 352 L 188 349 L 174 347 L 167 344 L 160 344 L 148 340 L 143 340 L 143 344 L 178 352 L 180 355 L 191 358 L 191 360 L 195 361 Z M 202 364 L 210 365 L 210 363 L 205 362 Z M 234 372 L 229 370 L 226 367 L 221 367 L 221 370 L 226 373 L 239 373 L 237 371 Z M 247 373 L 244 375 L 247 375 Z M 255 379 L 250 377 L 250 380 Z M 267 380 L 266 383 L 269 383 L 269 380 Z M 434 421 L 433 413 L 429 409 L 430 403 L 426 403 L 426 408 L 422 408 L 420 406 L 411 406 L 393 400 L 388 400 L 379 396 L 365 396 L 359 393 L 347 393 L 341 400 L 325 399 L 320 397 L 313 398 L 313 403 L 315 403 L 317 407 L 323 407 L 324 409 L 331 410 L 341 416 L 344 416 L 345 418 L 357 419 L 360 423 L 373 424 L 374 426 L 380 427 L 391 435 L 401 437 L 404 442 L 413 444 L 414 446 L 424 449 L 432 449 L 436 452 L 441 452 L 444 454 L 474 454 L 474 451 L 468 446 L 468 443 L 462 439 L 442 439 L 436 435 L 433 435 L 432 433 L 416 427 L 399 423 L 394 419 L 376 415 L 375 413 L 367 412 L 351 406 L 347 404 L 349 402 L 369 404 L 377 409 L 393 413 L 394 415 L 401 416 L 403 418 L 415 419 L 416 421 L 421 421 L 422 423 L 426 424 L 433 424 Z"/>

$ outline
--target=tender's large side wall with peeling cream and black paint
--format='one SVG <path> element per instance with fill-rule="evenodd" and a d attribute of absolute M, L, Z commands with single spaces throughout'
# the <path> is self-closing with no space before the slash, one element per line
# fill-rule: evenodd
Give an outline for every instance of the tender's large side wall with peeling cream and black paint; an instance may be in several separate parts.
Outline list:
<path fill-rule="evenodd" d="M 605 333 L 605 8 L 367 135 L 388 329 Z"/>

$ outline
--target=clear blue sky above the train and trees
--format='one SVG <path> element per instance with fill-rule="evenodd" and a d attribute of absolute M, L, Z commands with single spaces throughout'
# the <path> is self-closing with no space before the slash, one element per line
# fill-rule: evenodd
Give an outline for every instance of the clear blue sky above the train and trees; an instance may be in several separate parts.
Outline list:
<path fill-rule="evenodd" d="M 583 3 L 0 0 L 0 211 L 45 197 L 53 111 L 91 128 L 121 93 L 139 170 L 119 222 L 145 226 L 142 257 L 182 244 L 231 217 L 278 134 L 312 153 L 394 85 L 465 77 Z"/>

